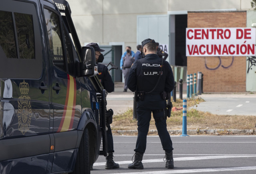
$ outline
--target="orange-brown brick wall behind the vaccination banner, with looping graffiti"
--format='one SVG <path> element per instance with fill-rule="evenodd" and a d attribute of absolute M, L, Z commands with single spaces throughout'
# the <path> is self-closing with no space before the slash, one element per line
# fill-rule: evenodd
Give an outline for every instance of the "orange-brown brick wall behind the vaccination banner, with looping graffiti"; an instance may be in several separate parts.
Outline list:
<path fill-rule="evenodd" d="M 246 12 L 187 14 L 187 28 L 211 27 L 246 27 Z M 246 56 L 187 57 L 187 73 L 199 71 L 204 74 L 204 92 L 246 92 Z"/>

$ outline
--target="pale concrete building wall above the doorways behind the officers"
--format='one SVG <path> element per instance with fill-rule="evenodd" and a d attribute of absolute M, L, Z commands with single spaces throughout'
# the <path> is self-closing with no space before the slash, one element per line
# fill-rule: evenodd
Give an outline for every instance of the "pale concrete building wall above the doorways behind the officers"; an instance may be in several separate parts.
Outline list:
<path fill-rule="evenodd" d="M 251 0 L 67 0 L 83 45 L 125 42 L 136 51 L 137 15 L 168 11 L 250 9 Z M 124 50 L 125 48 L 123 48 Z"/>

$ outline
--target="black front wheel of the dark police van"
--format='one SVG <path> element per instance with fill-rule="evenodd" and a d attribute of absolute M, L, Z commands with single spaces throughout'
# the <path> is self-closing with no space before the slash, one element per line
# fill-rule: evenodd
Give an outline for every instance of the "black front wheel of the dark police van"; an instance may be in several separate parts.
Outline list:
<path fill-rule="evenodd" d="M 89 130 L 85 128 L 77 153 L 74 171 L 70 174 L 90 174 Z"/>

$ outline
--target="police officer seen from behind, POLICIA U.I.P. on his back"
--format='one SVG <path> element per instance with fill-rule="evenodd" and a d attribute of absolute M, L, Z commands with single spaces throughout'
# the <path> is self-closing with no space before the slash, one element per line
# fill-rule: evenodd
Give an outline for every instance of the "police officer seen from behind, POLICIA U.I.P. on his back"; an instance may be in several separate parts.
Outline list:
<path fill-rule="evenodd" d="M 141 45 L 143 58 L 133 63 L 127 79 L 128 88 L 133 92 L 137 89 L 139 93 L 137 102 L 138 136 L 134 150 L 135 160 L 128 165 L 128 168 L 143 169 L 141 161 L 146 150 L 151 112 L 153 112 L 155 126 L 161 139 L 163 150 L 165 150 L 165 167 L 173 168 L 173 147 L 167 131 L 164 114 L 164 108 L 166 108 L 164 94 L 171 92 L 174 88 L 173 72 L 169 63 L 157 56 L 154 40 L 143 40 Z"/>

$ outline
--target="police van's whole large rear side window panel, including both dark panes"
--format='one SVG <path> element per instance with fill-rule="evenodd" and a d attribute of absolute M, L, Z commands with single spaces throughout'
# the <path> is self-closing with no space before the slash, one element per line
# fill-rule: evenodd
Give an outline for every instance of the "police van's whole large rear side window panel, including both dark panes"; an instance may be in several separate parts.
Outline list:
<path fill-rule="evenodd" d="M 0 78 L 41 77 L 44 35 L 38 19 L 34 3 L 4 1 L 0 5 Z"/>

